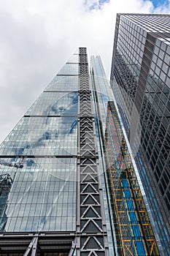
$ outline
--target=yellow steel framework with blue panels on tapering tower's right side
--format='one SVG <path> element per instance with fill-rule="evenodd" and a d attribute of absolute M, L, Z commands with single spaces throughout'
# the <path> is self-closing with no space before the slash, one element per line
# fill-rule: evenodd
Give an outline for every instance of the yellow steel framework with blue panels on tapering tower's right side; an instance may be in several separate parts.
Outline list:
<path fill-rule="evenodd" d="M 118 254 L 159 255 L 114 102 L 108 102 L 105 147 Z"/>

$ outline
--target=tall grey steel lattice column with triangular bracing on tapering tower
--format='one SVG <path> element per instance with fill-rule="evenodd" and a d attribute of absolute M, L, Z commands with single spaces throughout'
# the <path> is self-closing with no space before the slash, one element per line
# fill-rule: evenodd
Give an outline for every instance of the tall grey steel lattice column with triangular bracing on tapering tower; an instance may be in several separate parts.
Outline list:
<path fill-rule="evenodd" d="M 109 255 L 86 48 L 79 51 L 80 113 L 77 157 L 77 256 Z"/>

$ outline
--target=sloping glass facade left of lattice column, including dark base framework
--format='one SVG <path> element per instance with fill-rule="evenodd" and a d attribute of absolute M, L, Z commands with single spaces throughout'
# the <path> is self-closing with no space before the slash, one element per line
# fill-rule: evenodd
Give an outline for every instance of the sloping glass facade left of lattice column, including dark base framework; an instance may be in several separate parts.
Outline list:
<path fill-rule="evenodd" d="M 72 247 L 78 85 L 75 53 L 1 144 L 0 255 L 30 255 L 38 244 L 65 256 Z"/>

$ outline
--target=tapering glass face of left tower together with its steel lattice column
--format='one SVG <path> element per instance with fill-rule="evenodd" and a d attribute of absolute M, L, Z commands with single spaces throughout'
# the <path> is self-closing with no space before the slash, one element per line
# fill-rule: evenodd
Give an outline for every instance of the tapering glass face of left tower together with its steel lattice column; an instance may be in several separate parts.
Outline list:
<path fill-rule="evenodd" d="M 0 255 L 108 255 L 90 102 L 80 48 L 1 144 Z"/>

